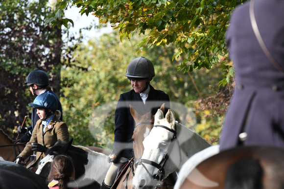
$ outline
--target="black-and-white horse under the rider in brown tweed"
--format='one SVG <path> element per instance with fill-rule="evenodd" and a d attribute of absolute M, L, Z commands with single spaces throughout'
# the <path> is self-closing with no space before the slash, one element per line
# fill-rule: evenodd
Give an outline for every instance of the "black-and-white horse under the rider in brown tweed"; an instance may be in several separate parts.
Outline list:
<path fill-rule="evenodd" d="M 61 144 L 61 141 L 56 142 L 47 152 L 48 155 L 40 161 L 36 174 L 47 178 L 54 157 L 59 154 L 68 155 L 74 164 L 75 180 L 79 187 L 92 184 L 99 188 L 111 165 L 107 161 L 108 156 L 87 147 L 73 146 L 71 142 L 67 144 Z"/>

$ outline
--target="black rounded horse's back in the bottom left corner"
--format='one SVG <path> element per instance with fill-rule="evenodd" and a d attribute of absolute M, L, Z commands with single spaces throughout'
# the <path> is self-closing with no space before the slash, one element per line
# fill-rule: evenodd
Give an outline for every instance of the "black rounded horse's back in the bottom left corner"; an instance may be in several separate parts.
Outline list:
<path fill-rule="evenodd" d="M 0 162 L 0 189 L 48 189 L 44 179 L 13 162 Z"/>

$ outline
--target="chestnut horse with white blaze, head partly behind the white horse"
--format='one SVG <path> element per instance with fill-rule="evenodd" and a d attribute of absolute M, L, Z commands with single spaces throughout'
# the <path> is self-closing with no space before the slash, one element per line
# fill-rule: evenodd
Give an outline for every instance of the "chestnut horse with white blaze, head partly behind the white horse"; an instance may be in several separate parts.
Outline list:
<path fill-rule="evenodd" d="M 160 108 L 163 112 L 165 111 L 165 105 L 163 104 Z M 132 140 L 133 140 L 133 149 L 134 149 L 134 161 L 131 164 L 127 170 L 125 170 L 123 176 L 121 176 L 121 179 L 119 180 L 119 183 L 114 184 L 112 189 L 133 189 L 132 185 L 132 178 L 135 174 L 135 162 L 136 160 L 140 159 L 142 157 L 144 147 L 143 147 L 143 140 L 144 138 L 150 133 L 151 129 L 154 125 L 154 115 L 151 114 L 151 112 L 148 112 L 144 115 L 140 115 L 137 113 L 137 111 L 130 105 L 130 113 L 135 121 L 137 123 L 136 128 L 133 132 Z M 173 181 L 170 181 L 169 179 L 165 179 L 162 182 L 165 186 L 163 187 L 159 185 L 158 187 L 160 189 L 163 188 L 173 188 Z"/>

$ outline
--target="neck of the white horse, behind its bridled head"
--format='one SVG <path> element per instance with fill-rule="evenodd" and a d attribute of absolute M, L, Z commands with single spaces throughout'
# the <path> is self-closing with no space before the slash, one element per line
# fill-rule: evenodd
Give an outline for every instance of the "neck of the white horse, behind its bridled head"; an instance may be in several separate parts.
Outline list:
<path fill-rule="evenodd" d="M 193 154 L 210 147 L 211 145 L 196 132 L 182 124 L 176 123 L 177 139 L 181 147 L 182 162 L 180 167 Z"/>

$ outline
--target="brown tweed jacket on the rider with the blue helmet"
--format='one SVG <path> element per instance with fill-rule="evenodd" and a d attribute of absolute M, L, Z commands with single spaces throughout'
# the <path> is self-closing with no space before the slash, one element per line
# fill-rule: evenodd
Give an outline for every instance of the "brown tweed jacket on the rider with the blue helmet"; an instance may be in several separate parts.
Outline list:
<path fill-rule="evenodd" d="M 62 142 L 69 142 L 69 131 L 66 123 L 61 122 L 56 116 L 54 116 L 54 118 L 47 125 L 45 133 L 43 133 L 42 120 L 38 120 L 35 128 L 32 131 L 30 141 L 26 144 L 24 150 L 19 156 L 22 156 L 24 159 L 26 159 L 33 154 L 33 151 L 31 150 L 31 143 L 39 143 L 49 149 L 59 139 Z M 35 163 L 38 163 L 38 161 L 45 156 L 46 155 L 43 152 L 36 152 L 36 160 L 31 162 L 27 168 L 35 165 Z"/>

